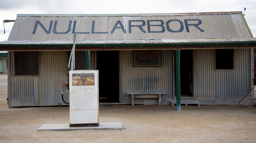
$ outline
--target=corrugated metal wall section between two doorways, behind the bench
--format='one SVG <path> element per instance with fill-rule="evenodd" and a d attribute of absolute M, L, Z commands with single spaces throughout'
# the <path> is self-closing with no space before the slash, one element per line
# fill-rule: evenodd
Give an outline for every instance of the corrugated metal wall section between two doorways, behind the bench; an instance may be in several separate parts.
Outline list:
<path fill-rule="evenodd" d="M 121 101 L 131 104 L 127 92 L 166 92 L 163 100 L 173 98 L 172 50 L 161 50 L 160 67 L 134 67 L 133 51 L 120 51 Z M 135 104 L 143 104 L 136 99 Z"/>

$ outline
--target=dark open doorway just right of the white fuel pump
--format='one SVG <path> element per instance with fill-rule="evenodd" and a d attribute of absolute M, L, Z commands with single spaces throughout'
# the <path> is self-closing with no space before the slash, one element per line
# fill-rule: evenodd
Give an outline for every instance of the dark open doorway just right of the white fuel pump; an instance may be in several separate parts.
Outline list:
<path fill-rule="evenodd" d="M 119 102 L 118 51 L 97 51 L 96 67 L 99 70 L 99 102 Z"/>

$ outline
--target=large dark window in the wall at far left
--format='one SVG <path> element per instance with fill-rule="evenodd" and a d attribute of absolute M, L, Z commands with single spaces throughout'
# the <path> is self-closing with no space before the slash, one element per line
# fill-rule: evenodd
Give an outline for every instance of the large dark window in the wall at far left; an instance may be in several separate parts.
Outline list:
<path fill-rule="evenodd" d="M 14 75 L 39 75 L 38 52 L 14 52 Z"/>

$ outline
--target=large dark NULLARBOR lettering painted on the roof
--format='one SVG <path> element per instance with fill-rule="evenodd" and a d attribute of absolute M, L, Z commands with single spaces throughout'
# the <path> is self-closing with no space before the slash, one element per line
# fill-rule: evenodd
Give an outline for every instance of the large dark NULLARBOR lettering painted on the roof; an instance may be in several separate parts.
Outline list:
<path fill-rule="evenodd" d="M 139 22 L 140 24 L 134 24 L 135 22 L 137 22 L 137 23 Z M 155 22 L 155 24 L 152 24 L 153 22 Z M 172 27 L 170 25 L 170 23 L 175 23 L 175 22 L 178 23 L 179 26 Z M 72 26 L 72 24 L 73 24 L 73 26 Z M 204 32 L 204 30 L 199 27 L 200 24 L 202 24 L 202 20 L 200 20 L 200 19 L 185 19 L 184 24 L 183 24 L 183 22 L 181 22 L 178 19 L 168 20 L 166 22 L 164 22 L 163 20 L 147 20 L 147 22 L 145 22 L 145 20 L 129 20 L 128 21 L 128 33 L 132 33 L 132 29 L 138 30 L 143 33 L 164 33 L 166 31 L 171 32 L 171 33 L 177 33 L 177 32 L 182 32 L 184 30 L 184 25 L 185 25 L 186 32 L 190 32 L 190 30 L 189 30 L 189 28 L 191 28 L 190 26 L 192 26 L 192 28 L 195 27 L 200 32 Z M 121 29 L 121 31 L 124 34 L 128 34 L 120 20 L 117 20 L 117 22 L 114 25 L 112 25 L 113 28 L 109 29 L 109 31 L 100 31 L 100 32 L 95 32 L 96 24 L 95 24 L 94 20 L 92 21 L 91 25 L 87 25 L 87 26 L 90 26 L 91 32 L 90 31 L 76 31 L 76 29 L 75 29 L 76 21 L 72 21 L 72 20 L 68 22 L 68 25 L 66 25 L 67 30 L 62 31 L 62 32 L 58 32 L 56 30 L 56 29 L 61 29 L 59 27 L 62 26 L 62 25 L 58 24 L 57 20 L 54 22 L 54 26 L 53 26 L 53 21 L 50 21 L 50 24 L 46 23 L 46 25 L 49 25 L 48 29 L 44 26 L 44 24 L 42 24 L 41 21 L 37 20 L 35 22 L 32 34 L 36 33 L 38 26 L 40 26 L 45 31 L 46 34 L 51 34 L 51 32 L 53 34 L 68 34 L 69 32 L 71 32 L 72 28 L 73 28 L 72 34 L 90 34 L 90 33 L 91 34 L 108 34 L 108 33 L 113 34 L 113 33 L 115 33 L 116 29 Z M 132 27 L 135 27 L 135 28 L 132 28 Z M 136 28 L 136 27 L 138 27 L 138 28 Z M 177 28 L 179 28 L 179 29 L 177 29 Z M 147 29 L 147 32 L 144 29 Z M 159 31 L 157 31 L 157 29 L 159 29 Z"/>

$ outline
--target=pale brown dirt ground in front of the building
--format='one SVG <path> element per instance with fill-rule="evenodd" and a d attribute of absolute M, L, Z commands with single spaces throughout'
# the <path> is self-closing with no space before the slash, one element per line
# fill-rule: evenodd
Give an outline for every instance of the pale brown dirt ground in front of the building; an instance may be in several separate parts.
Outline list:
<path fill-rule="evenodd" d="M 0 142 L 255 143 L 256 110 L 236 105 L 100 105 L 99 122 L 123 130 L 37 131 L 69 123 L 69 107 L 8 108 L 7 74 L 0 74 Z"/>

